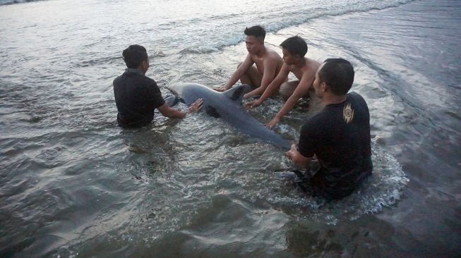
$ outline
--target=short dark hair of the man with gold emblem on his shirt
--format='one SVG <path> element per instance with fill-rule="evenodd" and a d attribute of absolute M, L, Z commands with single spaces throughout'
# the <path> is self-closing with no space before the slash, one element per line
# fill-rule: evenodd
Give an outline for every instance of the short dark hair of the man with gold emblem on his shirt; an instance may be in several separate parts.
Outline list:
<path fill-rule="evenodd" d="M 325 82 L 333 94 L 347 94 L 354 82 L 354 68 L 345 59 L 327 59 L 318 71 L 318 79 Z"/>

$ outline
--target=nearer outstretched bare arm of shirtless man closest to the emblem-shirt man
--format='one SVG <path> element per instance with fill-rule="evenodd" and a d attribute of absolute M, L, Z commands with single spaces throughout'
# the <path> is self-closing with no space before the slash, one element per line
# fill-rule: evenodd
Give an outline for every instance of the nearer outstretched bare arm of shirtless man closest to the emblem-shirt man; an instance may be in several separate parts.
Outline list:
<path fill-rule="evenodd" d="M 311 87 L 313 79 L 314 76 L 312 75 L 303 75 L 296 89 L 294 89 L 292 96 L 287 99 L 287 102 L 285 102 L 285 104 L 282 106 L 282 109 L 280 109 L 275 117 L 268 123 L 268 128 L 273 128 L 273 126 L 276 125 L 283 116 L 285 116 L 289 111 L 293 109 L 294 105 L 297 104 L 299 99 L 304 97 L 307 92 L 309 92 L 309 87 Z"/>

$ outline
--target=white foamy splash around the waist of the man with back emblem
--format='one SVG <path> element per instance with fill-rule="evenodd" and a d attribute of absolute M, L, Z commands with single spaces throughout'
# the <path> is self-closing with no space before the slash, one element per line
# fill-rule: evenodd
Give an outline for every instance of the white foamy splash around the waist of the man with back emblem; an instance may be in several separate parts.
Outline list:
<path fill-rule="evenodd" d="M 261 185 L 256 190 L 259 195 L 253 193 L 245 197 L 251 199 L 251 202 L 258 202 L 258 198 L 267 199 L 274 207 L 279 207 L 299 219 L 309 218 L 328 224 L 359 219 L 364 214 L 376 214 L 384 207 L 396 204 L 409 181 L 395 157 L 374 143 L 372 160 L 373 175 L 356 192 L 340 201 L 325 203 L 323 199 L 306 196 L 290 183 L 284 185 L 275 180 L 262 182 L 261 184 L 269 185 Z M 265 190 L 271 186 L 277 187 L 276 184 L 279 184 L 279 188 L 282 185 L 288 192 Z"/>

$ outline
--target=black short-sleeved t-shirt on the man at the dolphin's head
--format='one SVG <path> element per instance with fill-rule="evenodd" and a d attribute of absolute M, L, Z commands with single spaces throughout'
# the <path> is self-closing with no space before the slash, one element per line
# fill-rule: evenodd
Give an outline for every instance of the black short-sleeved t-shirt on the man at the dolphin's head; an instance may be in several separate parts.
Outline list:
<path fill-rule="evenodd" d="M 138 69 L 126 69 L 114 80 L 117 121 L 123 127 L 140 127 L 154 118 L 154 110 L 164 104 L 155 80 Z"/>

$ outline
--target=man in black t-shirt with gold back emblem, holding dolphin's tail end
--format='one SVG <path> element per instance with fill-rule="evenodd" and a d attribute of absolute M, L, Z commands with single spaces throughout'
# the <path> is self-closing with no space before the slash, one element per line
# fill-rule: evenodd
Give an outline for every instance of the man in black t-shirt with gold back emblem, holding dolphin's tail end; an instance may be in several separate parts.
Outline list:
<path fill-rule="evenodd" d="M 349 92 L 354 69 L 345 59 L 327 59 L 313 87 L 325 106 L 302 126 L 299 145 L 287 152 L 294 164 L 306 168 L 299 186 L 311 195 L 340 199 L 350 195 L 371 175 L 370 114 L 365 100 Z M 320 168 L 311 176 L 313 157 Z"/>

